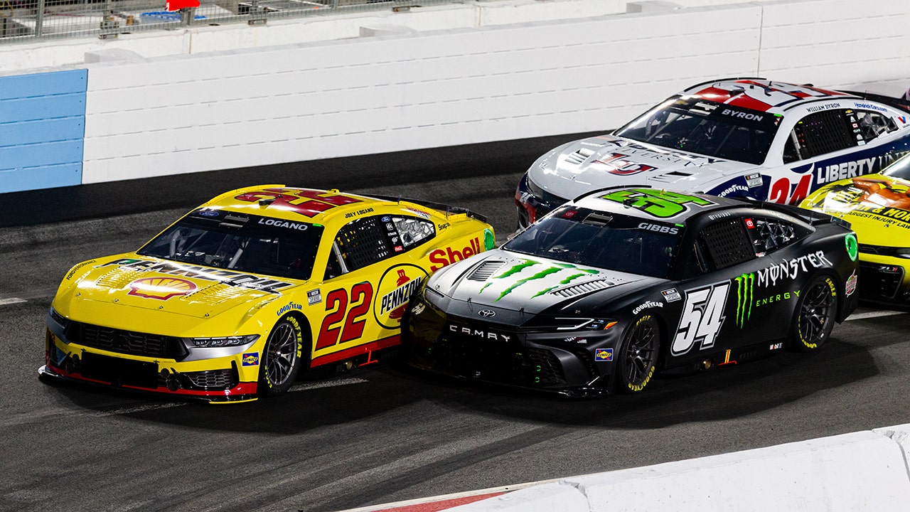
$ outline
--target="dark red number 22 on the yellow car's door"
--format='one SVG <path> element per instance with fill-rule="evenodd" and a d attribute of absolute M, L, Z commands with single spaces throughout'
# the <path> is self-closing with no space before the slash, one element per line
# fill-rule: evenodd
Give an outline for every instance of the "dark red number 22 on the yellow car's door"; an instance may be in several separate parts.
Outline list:
<path fill-rule="evenodd" d="M 351 304 L 348 309 L 349 303 Z M 326 296 L 326 317 L 319 327 L 319 338 L 316 350 L 327 348 L 337 343 L 356 340 L 363 335 L 364 317 L 373 303 L 373 286 L 369 282 L 358 282 L 348 291 L 344 288 L 332 290 Z M 344 319 L 344 323 L 340 323 Z M 333 324 L 338 323 L 335 327 Z M 340 332 L 340 336 L 339 336 Z"/>

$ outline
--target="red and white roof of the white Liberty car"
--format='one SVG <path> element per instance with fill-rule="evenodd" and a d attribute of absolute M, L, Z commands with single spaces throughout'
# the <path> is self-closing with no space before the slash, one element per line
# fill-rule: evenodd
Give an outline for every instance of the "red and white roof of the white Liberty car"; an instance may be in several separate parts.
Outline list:
<path fill-rule="evenodd" d="M 752 96 L 772 97 L 780 93 L 783 101 L 771 106 Z M 824 100 L 855 98 L 852 93 L 813 87 L 811 84 L 790 84 L 775 82 L 766 78 L 723 78 L 703 82 L 689 87 L 680 93 L 683 97 L 696 97 L 705 101 L 723 103 L 733 107 L 749 108 L 769 114 L 783 114 L 785 110 Z M 784 96 L 785 95 L 785 96 Z"/>

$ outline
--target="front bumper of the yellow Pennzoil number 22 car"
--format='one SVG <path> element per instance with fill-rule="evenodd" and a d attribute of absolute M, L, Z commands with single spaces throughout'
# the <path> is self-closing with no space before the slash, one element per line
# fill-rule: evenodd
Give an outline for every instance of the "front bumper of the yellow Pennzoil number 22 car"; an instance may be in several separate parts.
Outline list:
<path fill-rule="evenodd" d="M 39 374 L 212 403 L 245 402 L 257 398 L 258 354 L 249 350 L 233 356 L 180 362 L 66 343 L 61 334 L 47 328 L 45 365 Z M 252 364 L 254 361 L 256 364 Z"/>

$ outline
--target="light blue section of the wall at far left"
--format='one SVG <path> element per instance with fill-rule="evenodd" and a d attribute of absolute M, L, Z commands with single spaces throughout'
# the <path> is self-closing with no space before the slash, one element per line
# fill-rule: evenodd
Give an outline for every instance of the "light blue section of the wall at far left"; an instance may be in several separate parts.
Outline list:
<path fill-rule="evenodd" d="M 0 193 L 82 183 L 88 71 L 0 77 Z"/>

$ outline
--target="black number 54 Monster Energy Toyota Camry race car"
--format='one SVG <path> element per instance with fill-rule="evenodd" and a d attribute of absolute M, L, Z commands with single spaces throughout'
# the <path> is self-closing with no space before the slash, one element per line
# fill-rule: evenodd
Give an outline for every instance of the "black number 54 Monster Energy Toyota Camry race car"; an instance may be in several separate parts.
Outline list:
<path fill-rule="evenodd" d="M 641 392 L 655 371 L 814 351 L 856 307 L 846 222 L 647 188 L 553 210 L 411 299 L 419 369 L 569 395 Z"/>

